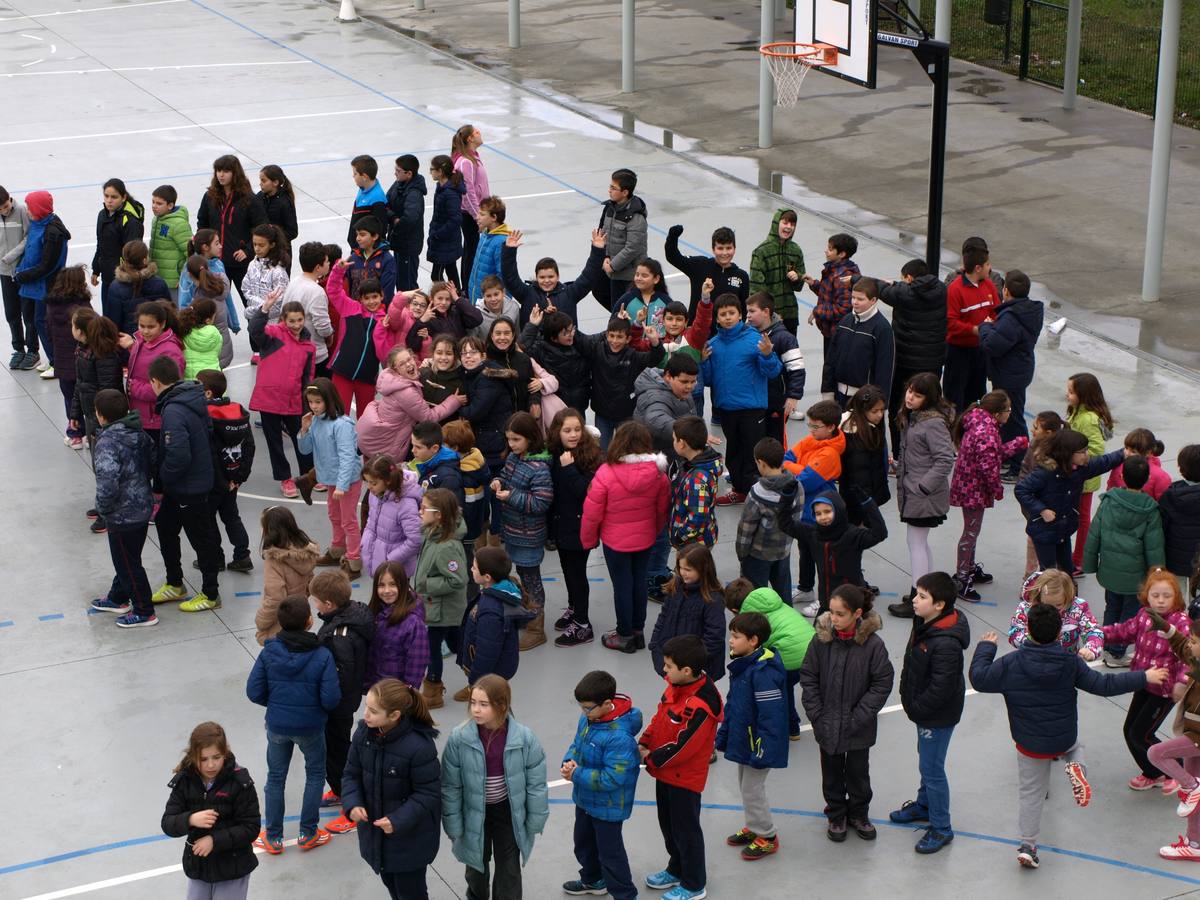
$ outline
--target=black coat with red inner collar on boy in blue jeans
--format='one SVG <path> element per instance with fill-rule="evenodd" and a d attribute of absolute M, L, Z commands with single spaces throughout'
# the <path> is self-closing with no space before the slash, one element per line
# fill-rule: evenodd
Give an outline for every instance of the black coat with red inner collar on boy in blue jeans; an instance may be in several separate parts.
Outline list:
<path fill-rule="evenodd" d="M 958 725 L 967 683 L 962 654 L 971 646 L 971 625 L 956 610 L 943 612 L 932 622 L 919 616 L 900 670 L 900 702 L 905 714 L 923 728 Z"/>

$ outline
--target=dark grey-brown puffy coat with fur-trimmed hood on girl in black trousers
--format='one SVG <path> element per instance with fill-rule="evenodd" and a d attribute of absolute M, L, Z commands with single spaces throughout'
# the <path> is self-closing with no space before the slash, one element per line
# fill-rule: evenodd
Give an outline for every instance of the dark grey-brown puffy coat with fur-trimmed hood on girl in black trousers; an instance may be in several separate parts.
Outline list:
<path fill-rule="evenodd" d="M 800 667 L 804 712 L 812 736 L 827 754 L 875 745 L 880 710 L 892 691 L 894 671 L 888 648 L 876 634 L 877 612 L 858 620 L 850 640 L 834 634 L 829 613 L 816 620 L 816 640 Z"/>

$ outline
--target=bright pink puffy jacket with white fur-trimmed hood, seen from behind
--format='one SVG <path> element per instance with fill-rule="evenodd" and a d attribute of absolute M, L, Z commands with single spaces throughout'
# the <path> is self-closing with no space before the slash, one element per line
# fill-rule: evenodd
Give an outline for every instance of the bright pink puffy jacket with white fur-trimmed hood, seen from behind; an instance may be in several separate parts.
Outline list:
<path fill-rule="evenodd" d="M 583 500 L 583 546 L 604 541 L 623 553 L 653 546 L 667 523 L 671 482 L 666 470 L 662 454 L 635 454 L 623 456 L 616 466 L 601 466 Z"/>

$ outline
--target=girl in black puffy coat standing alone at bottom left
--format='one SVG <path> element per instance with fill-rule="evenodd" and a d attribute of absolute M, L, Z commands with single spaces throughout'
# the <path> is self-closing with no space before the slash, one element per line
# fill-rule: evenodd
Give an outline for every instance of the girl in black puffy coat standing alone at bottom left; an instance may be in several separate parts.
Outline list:
<path fill-rule="evenodd" d="M 250 874 L 258 868 L 253 851 L 258 792 L 250 773 L 234 758 L 224 728 L 216 722 L 192 728 L 174 772 L 167 785 L 170 798 L 162 812 L 162 832 L 169 838 L 187 838 L 184 875 L 188 895 L 245 900 Z"/>

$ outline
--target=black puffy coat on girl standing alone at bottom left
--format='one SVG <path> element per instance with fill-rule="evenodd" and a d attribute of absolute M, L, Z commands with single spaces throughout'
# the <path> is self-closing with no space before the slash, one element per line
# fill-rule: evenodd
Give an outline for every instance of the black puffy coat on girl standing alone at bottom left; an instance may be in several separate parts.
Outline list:
<path fill-rule="evenodd" d="M 162 814 L 162 830 L 172 838 L 187 838 L 184 845 L 184 875 L 214 883 L 233 881 L 250 875 L 258 868 L 253 842 L 260 827 L 258 793 L 250 773 L 230 756 L 212 782 L 204 790 L 204 781 L 188 767 L 170 780 L 170 798 Z M 206 809 L 217 811 L 211 829 L 193 828 L 187 820 L 193 812 Z M 192 853 L 192 845 L 200 838 L 212 836 L 212 852 L 206 857 Z"/>

